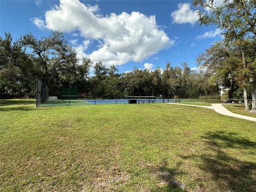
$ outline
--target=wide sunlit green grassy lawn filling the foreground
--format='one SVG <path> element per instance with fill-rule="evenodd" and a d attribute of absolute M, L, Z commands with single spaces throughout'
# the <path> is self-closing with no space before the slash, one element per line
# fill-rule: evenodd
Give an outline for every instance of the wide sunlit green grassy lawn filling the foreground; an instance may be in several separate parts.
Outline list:
<path fill-rule="evenodd" d="M 165 103 L 0 109 L 0 191 L 256 191 L 255 122 Z"/>

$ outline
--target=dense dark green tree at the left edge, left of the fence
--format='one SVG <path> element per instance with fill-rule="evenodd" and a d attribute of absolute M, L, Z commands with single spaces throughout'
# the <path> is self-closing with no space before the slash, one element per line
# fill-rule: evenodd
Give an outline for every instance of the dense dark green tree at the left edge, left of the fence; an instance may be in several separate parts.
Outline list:
<path fill-rule="evenodd" d="M 35 76 L 40 74 L 33 57 L 22 50 L 10 33 L 0 37 L 1 97 L 34 97 Z"/>

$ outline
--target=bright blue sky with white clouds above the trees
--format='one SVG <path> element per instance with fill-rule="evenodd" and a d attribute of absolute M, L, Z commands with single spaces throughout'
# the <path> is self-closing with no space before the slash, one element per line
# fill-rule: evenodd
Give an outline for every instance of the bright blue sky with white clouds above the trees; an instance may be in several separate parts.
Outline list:
<path fill-rule="evenodd" d="M 33 33 L 47 36 L 60 29 L 79 57 L 116 65 L 119 72 L 134 67 L 164 68 L 195 59 L 220 30 L 196 23 L 191 1 L 1 1 L 1 36 Z"/>

